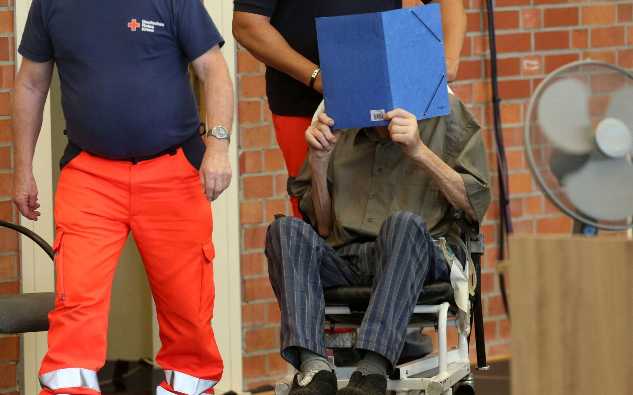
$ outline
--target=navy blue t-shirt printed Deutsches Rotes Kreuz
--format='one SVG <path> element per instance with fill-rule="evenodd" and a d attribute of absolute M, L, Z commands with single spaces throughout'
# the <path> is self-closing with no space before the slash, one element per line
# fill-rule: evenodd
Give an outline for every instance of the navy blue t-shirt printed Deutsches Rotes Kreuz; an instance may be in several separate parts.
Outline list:
<path fill-rule="evenodd" d="M 189 62 L 223 43 L 200 0 L 34 0 L 18 52 L 55 59 L 70 142 L 129 159 L 197 130 Z"/>

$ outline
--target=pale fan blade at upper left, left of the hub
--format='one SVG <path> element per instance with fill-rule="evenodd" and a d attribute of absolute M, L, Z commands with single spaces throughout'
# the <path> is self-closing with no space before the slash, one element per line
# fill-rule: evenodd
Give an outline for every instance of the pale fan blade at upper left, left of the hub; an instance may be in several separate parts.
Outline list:
<path fill-rule="evenodd" d="M 560 149 L 583 154 L 596 146 L 589 118 L 589 92 L 582 82 L 567 78 L 549 85 L 539 101 L 541 129 Z"/>

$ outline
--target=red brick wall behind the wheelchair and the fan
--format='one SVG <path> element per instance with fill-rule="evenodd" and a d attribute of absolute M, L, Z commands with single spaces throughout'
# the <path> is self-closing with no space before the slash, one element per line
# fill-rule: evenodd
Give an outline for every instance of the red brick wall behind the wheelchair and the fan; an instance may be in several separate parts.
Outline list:
<path fill-rule="evenodd" d="M 484 128 L 491 171 L 492 143 L 489 46 L 484 0 L 463 0 L 468 33 L 453 91 L 467 102 Z M 404 6 L 419 4 L 404 0 Z M 523 122 L 529 97 L 547 73 L 578 59 L 599 59 L 633 68 L 633 4 L 630 1 L 497 0 L 495 11 L 501 119 L 510 167 L 511 215 L 515 231 L 568 233 L 571 221 L 546 200 L 523 155 Z M 246 387 L 271 384 L 284 375 L 278 355 L 279 309 L 268 284 L 263 236 L 273 214 L 288 212 L 285 172 L 265 99 L 264 66 L 237 52 L 241 179 L 244 379 Z M 496 188 L 497 177 L 493 176 Z M 496 192 L 495 192 L 496 193 Z M 482 224 L 486 259 L 482 294 L 489 355 L 510 352 L 509 323 L 495 266 L 498 198 Z M 451 339 L 451 343 L 455 339 Z"/>

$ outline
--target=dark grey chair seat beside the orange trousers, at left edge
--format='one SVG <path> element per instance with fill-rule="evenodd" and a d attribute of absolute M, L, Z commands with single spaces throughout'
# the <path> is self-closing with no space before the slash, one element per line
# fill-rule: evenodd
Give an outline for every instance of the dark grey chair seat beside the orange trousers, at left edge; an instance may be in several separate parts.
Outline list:
<path fill-rule="evenodd" d="M 0 333 L 48 331 L 48 313 L 54 307 L 54 292 L 0 296 Z"/>

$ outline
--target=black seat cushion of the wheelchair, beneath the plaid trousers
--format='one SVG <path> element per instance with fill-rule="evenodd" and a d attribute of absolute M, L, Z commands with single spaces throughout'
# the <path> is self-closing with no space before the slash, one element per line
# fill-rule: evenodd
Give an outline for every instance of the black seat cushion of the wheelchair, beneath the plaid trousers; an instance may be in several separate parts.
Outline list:
<path fill-rule="evenodd" d="M 323 289 L 325 306 L 348 306 L 350 310 L 363 310 L 372 297 L 372 286 L 337 286 Z M 454 304 L 453 286 L 450 283 L 425 284 L 418 296 L 418 305 L 439 305 L 448 301 Z"/>

